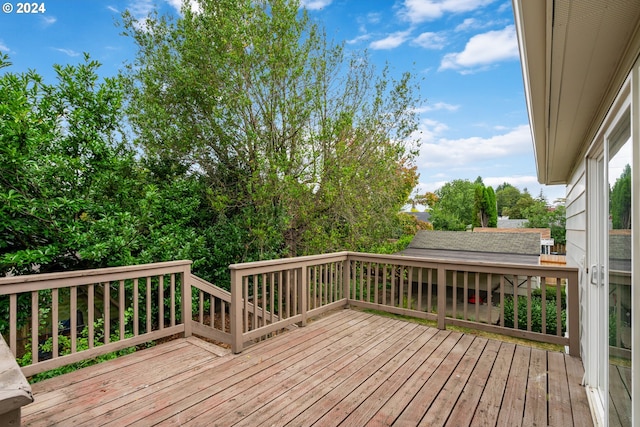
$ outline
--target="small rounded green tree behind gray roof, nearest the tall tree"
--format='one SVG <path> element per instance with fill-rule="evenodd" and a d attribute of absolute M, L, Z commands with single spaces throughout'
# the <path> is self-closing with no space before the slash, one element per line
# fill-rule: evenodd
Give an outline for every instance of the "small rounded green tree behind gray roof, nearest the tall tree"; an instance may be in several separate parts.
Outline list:
<path fill-rule="evenodd" d="M 475 184 L 456 179 L 436 190 L 438 201 L 431 211 L 435 230 L 465 230 L 473 224 Z"/>

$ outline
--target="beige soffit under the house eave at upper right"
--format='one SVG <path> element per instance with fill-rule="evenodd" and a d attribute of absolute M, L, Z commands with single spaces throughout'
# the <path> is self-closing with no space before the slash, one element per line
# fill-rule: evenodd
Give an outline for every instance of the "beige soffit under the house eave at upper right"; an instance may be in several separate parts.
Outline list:
<path fill-rule="evenodd" d="M 564 184 L 638 54 L 640 0 L 514 0 L 514 11 L 538 179 Z"/>

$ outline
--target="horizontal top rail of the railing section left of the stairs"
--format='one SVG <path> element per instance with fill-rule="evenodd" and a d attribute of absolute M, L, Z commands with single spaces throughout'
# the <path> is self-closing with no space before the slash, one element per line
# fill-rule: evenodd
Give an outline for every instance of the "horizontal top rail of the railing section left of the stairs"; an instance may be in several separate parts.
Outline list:
<path fill-rule="evenodd" d="M 24 276 L 1 277 L 0 295 L 98 283 L 110 280 L 126 280 L 144 276 L 169 274 L 190 266 L 192 261 L 168 261 L 153 264 L 128 265 L 122 267 L 98 268 L 93 270 L 63 271 L 60 273 L 29 274 Z M 29 286 L 31 285 L 31 286 Z"/>

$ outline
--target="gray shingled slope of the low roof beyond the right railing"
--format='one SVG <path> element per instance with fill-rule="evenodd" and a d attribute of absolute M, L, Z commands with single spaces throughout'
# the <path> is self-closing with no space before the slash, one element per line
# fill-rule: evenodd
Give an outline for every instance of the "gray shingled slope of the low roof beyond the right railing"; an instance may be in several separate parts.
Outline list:
<path fill-rule="evenodd" d="M 408 248 L 540 255 L 540 236 L 530 233 L 425 230 L 416 233 Z"/>

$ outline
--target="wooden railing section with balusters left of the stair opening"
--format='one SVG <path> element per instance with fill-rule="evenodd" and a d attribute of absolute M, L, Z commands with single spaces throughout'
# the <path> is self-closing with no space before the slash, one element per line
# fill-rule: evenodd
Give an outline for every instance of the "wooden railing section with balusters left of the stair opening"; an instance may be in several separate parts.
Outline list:
<path fill-rule="evenodd" d="M 191 335 L 191 261 L 0 278 L 9 348 L 30 376 Z M 188 305 L 187 305 L 188 302 Z M 186 308 L 185 308 L 186 307 Z"/>

